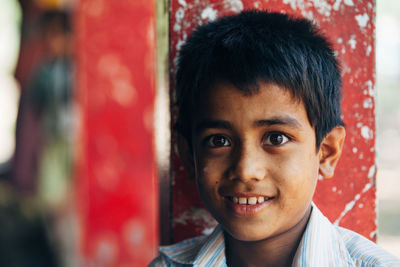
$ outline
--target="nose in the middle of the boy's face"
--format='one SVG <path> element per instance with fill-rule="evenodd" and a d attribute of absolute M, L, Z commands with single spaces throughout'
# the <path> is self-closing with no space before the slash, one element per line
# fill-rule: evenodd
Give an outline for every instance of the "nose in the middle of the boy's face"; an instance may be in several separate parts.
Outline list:
<path fill-rule="evenodd" d="M 236 152 L 232 166 L 232 179 L 243 182 L 263 180 L 267 173 L 267 162 L 262 155 L 262 148 L 242 145 Z"/>

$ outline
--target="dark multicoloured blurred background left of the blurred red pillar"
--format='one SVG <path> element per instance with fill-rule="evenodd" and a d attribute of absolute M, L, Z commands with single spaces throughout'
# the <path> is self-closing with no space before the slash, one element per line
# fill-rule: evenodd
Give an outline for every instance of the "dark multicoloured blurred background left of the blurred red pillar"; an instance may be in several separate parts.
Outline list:
<path fill-rule="evenodd" d="M 76 266 L 72 2 L 0 2 L 0 265 Z"/>

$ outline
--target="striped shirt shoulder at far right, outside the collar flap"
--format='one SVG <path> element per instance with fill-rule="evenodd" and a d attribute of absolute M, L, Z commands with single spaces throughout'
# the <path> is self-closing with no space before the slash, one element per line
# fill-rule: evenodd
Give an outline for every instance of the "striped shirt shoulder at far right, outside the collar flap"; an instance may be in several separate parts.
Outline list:
<path fill-rule="evenodd" d="M 400 259 L 362 235 L 342 227 L 337 227 L 337 231 L 355 266 L 400 267 Z"/>

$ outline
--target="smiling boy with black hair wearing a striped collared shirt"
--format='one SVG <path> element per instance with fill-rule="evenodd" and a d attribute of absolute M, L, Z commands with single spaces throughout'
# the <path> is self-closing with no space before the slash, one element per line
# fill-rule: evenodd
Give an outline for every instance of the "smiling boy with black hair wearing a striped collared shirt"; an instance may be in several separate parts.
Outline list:
<path fill-rule="evenodd" d="M 400 266 L 312 203 L 342 152 L 341 78 L 305 19 L 258 11 L 199 27 L 176 73 L 178 147 L 219 226 L 152 266 Z"/>

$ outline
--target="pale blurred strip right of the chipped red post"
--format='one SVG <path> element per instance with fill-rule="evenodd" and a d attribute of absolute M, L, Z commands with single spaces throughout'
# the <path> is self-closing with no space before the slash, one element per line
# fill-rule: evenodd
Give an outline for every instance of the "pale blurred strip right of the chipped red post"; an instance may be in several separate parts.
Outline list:
<path fill-rule="evenodd" d="M 400 2 L 376 8 L 378 244 L 400 257 Z"/>

